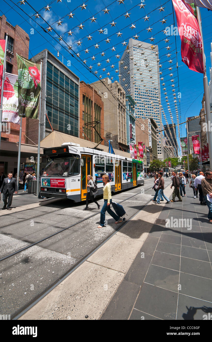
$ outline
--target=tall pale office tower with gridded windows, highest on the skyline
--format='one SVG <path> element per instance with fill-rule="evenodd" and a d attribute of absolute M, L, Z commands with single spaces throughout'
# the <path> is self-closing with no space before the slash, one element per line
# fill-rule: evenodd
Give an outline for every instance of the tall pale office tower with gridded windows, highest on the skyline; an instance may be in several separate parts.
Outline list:
<path fill-rule="evenodd" d="M 161 128 L 158 46 L 130 38 L 119 61 L 119 83 L 135 100 L 136 118 L 152 118 Z M 157 134 L 158 159 L 164 159 L 161 133 Z"/>

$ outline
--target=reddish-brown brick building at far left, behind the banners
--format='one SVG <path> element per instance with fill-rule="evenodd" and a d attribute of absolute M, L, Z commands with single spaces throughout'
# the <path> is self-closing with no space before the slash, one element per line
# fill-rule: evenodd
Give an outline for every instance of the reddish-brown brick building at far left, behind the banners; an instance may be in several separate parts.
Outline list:
<path fill-rule="evenodd" d="M 6 33 L 9 35 L 8 44 L 6 47 L 6 72 L 17 75 L 17 59 L 16 53 L 29 58 L 29 36 L 28 34 L 18 25 L 12 26 L 6 21 L 5 15 L 0 17 L 0 39 L 5 39 Z M 1 157 L 0 157 L 0 169 L 4 169 L 4 173 L 7 171 L 15 171 L 17 166 L 17 160 L 14 157 L 17 155 L 17 143 L 19 141 L 20 125 L 10 123 L 9 132 L 2 131 L 1 133 Z M 8 134 L 9 133 L 9 134 Z M 26 134 L 26 118 L 22 119 L 22 144 L 25 144 Z M 14 143 L 14 146 L 12 145 Z M 10 146 L 9 146 L 9 145 Z M 26 146 L 24 148 L 26 150 Z M 23 151 L 24 151 L 23 150 Z M 8 153 L 8 151 L 10 151 Z M 4 157 L 2 157 L 4 156 Z M 12 157 L 12 158 L 11 158 Z M 22 155 L 21 155 L 22 157 Z M 26 161 L 25 158 L 21 158 L 21 162 Z"/>

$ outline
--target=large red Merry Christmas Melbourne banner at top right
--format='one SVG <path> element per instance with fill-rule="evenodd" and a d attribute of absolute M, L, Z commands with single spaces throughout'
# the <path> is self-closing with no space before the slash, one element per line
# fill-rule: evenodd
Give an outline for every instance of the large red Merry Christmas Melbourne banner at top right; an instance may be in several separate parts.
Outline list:
<path fill-rule="evenodd" d="M 181 56 L 190 70 L 204 73 L 202 39 L 193 8 L 182 0 L 172 0 L 181 38 Z"/>

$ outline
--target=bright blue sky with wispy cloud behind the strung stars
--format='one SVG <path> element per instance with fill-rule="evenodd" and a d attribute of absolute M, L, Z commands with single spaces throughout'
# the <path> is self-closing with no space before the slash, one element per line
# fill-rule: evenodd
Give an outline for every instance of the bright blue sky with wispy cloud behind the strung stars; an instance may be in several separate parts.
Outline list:
<path fill-rule="evenodd" d="M 58 2 L 57 2 L 58 1 Z M 85 9 L 82 9 L 80 6 L 83 5 L 83 2 L 73 1 L 73 0 L 54 0 L 49 3 L 46 1 L 34 1 L 31 0 L 29 3 L 34 8 L 30 8 L 30 6 L 26 3 L 25 5 L 21 5 L 17 1 L 14 3 L 11 0 L 1 0 L 1 10 L 0 13 L 4 14 L 8 21 L 13 25 L 19 25 L 22 27 L 30 37 L 29 44 L 29 58 L 36 55 L 38 52 L 43 49 L 48 49 L 55 56 L 57 56 L 57 51 L 59 51 L 59 59 L 63 63 L 67 65 L 67 61 L 70 61 L 71 66 L 69 67 L 73 73 L 80 77 L 80 80 L 84 80 L 86 83 L 94 82 L 97 80 L 97 77 L 90 73 L 89 70 L 85 68 L 83 63 L 77 61 L 76 58 L 73 58 L 68 51 L 66 51 L 63 46 L 66 44 L 54 37 L 58 37 L 55 32 L 49 31 L 45 33 L 43 29 L 47 31 L 48 25 L 55 29 L 55 31 L 61 35 L 61 37 L 73 47 L 73 50 L 76 53 L 80 54 L 82 61 L 86 60 L 86 65 L 89 67 L 93 66 L 92 71 L 97 71 L 97 76 L 102 75 L 102 78 L 107 77 L 107 73 L 109 72 L 109 78 L 113 77 L 113 81 L 118 80 L 118 73 L 115 72 L 118 69 L 118 61 L 119 59 L 116 55 L 122 56 L 125 46 L 123 46 L 122 42 L 128 42 L 129 38 L 132 38 L 135 35 L 139 36 L 139 40 L 149 42 L 150 38 L 154 38 L 154 44 L 158 45 L 159 48 L 159 58 L 160 64 L 162 68 L 162 77 L 164 80 L 161 81 L 161 104 L 164 108 L 166 118 L 168 123 L 171 123 L 171 118 L 169 115 L 169 111 L 167 110 L 167 104 L 165 101 L 165 95 L 162 91 L 162 82 L 165 82 L 165 87 L 167 91 L 167 96 L 170 103 L 171 113 L 173 116 L 173 121 L 176 123 L 176 113 L 173 102 L 173 92 L 171 87 L 171 81 L 169 74 L 173 74 L 174 84 L 175 84 L 175 93 L 178 94 L 178 91 L 181 93 L 181 99 L 179 104 L 179 99 L 177 98 L 178 104 L 178 113 L 179 113 L 179 121 L 183 122 L 186 120 L 186 117 L 199 115 L 199 111 L 201 109 L 201 100 L 203 96 L 203 75 L 196 73 L 195 71 L 189 70 L 188 67 L 181 61 L 181 41 L 180 37 L 176 36 L 176 48 L 175 48 L 175 36 L 166 36 L 162 30 L 166 27 L 171 27 L 171 25 L 175 26 L 176 17 L 172 12 L 172 2 L 169 1 L 151 1 L 144 0 L 142 3 L 145 5 L 144 8 L 140 9 L 138 4 L 141 3 L 137 1 L 124 0 L 120 1 L 108 1 L 108 0 L 87 0 L 84 2 L 86 5 Z M 17 4 L 17 6 L 15 5 Z M 45 11 L 44 7 L 51 6 L 50 11 Z M 164 11 L 159 11 L 158 9 L 162 6 Z M 109 13 L 103 12 L 107 8 Z M 27 14 L 25 14 L 23 11 Z M 42 18 L 36 18 L 34 14 L 38 12 L 48 23 L 48 25 L 43 21 Z M 207 76 L 208 81 L 210 80 L 209 67 L 211 67 L 210 61 L 210 44 L 212 41 L 212 33 L 211 33 L 211 19 L 212 12 L 207 9 L 201 9 L 201 17 L 202 17 L 202 29 L 203 29 L 203 38 L 204 38 L 204 49 L 206 55 L 206 66 L 207 66 Z M 73 18 L 68 14 L 73 13 Z M 129 13 L 129 16 L 125 14 Z M 143 18 L 147 15 L 149 20 L 144 20 Z M 95 21 L 91 22 L 90 18 L 94 16 Z M 162 24 L 162 19 L 166 20 L 166 23 Z M 62 22 L 61 25 L 58 25 L 59 20 Z M 115 26 L 111 25 L 114 21 Z M 82 23 L 83 29 L 79 29 Z M 42 29 L 39 25 L 42 26 Z M 135 25 L 135 28 L 130 28 Z M 147 32 L 147 28 L 152 28 L 152 31 Z M 103 31 L 101 34 L 98 30 Z M 71 30 L 73 32 L 71 35 L 68 35 L 68 32 Z M 118 32 L 121 33 L 121 37 L 118 36 Z M 117 33 L 117 34 L 116 34 Z M 88 40 L 88 36 L 91 36 L 91 40 Z M 108 43 L 105 41 L 107 38 L 110 40 Z M 165 39 L 169 39 L 169 42 L 166 43 Z M 81 42 L 81 45 L 77 44 L 77 41 Z M 95 48 L 94 45 L 98 44 L 98 48 Z M 166 47 L 169 46 L 170 50 L 167 50 Z M 67 47 L 67 45 L 66 45 Z M 115 50 L 112 50 L 114 47 Z M 87 53 L 85 50 L 89 50 Z M 71 51 L 71 50 L 70 50 Z M 177 68 L 176 68 L 176 51 L 178 58 L 178 72 L 179 72 L 179 90 L 178 90 L 178 77 L 177 77 Z M 101 53 L 104 52 L 104 55 Z M 172 63 L 168 62 L 168 57 L 166 56 L 168 53 L 171 54 Z M 95 60 L 91 57 L 95 57 Z M 106 60 L 110 61 L 107 63 Z M 100 63 L 100 65 L 97 65 Z M 114 65 L 114 68 L 111 67 Z M 105 67 L 105 71 L 102 68 Z M 170 71 L 168 68 L 172 67 Z M 181 113 L 181 119 L 180 119 Z M 162 122 L 166 124 L 163 115 Z M 180 126 L 180 135 L 185 136 L 185 124 Z M 176 132 L 178 137 L 178 131 Z M 179 139 L 178 139 L 179 143 Z"/>

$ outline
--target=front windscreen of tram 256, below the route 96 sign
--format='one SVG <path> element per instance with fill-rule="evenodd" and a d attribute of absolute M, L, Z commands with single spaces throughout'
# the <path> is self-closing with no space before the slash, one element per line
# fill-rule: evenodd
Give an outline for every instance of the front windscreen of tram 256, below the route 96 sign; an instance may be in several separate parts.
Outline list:
<path fill-rule="evenodd" d="M 74 176 L 80 173 L 80 156 L 48 158 L 45 170 L 47 176 Z"/>

